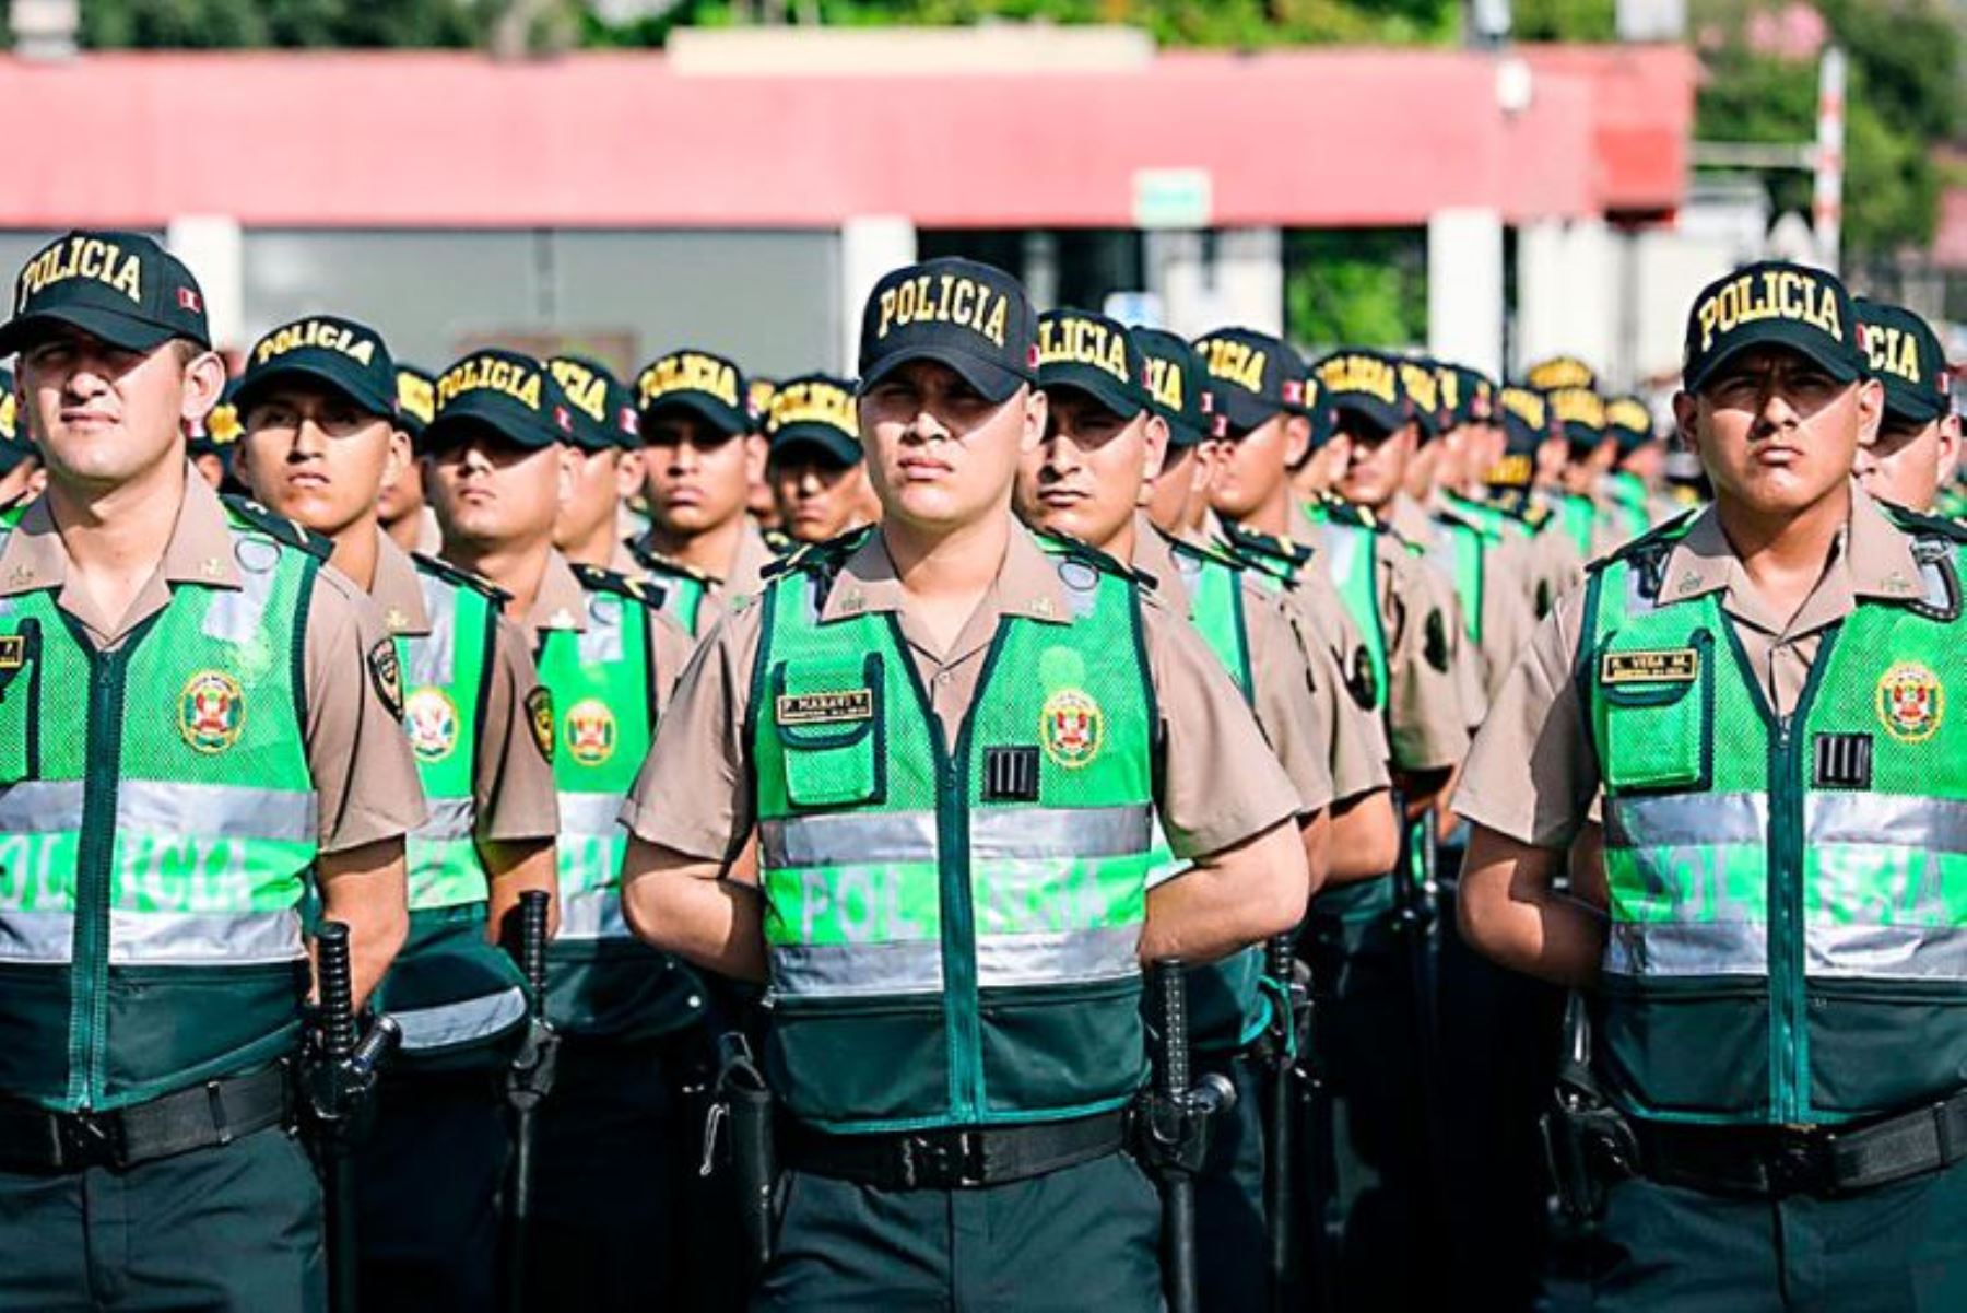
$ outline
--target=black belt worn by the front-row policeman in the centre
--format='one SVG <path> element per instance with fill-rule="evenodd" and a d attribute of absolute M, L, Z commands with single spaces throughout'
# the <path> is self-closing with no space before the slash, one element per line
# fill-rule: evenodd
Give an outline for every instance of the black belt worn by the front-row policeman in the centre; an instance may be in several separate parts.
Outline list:
<path fill-rule="evenodd" d="M 1029 1126 L 836 1136 L 803 1124 L 783 1132 L 785 1165 L 877 1189 L 982 1189 L 1029 1181 L 1125 1150 L 1127 1110 Z"/>

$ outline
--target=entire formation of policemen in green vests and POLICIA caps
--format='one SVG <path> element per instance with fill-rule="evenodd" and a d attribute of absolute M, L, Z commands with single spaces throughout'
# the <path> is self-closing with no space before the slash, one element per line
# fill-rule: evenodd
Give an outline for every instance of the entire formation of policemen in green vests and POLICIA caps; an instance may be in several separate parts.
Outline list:
<path fill-rule="evenodd" d="M 1967 1307 L 1967 531 L 1904 309 L 1705 289 L 1698 514 L 1581 360 L 1306 366 L 964 260 L 879 281 L 858 380 L 433 378 L 313 315 L 226 388 L 191 274 L 75 232 L 0 350 L 0 1307 L 323 1307 L 315 917 L 403 1033 L 364 1309 L 1157 1309 L 1190 1171 L 1210 1313 L 1528 1309 L 1554 1258 Z M 222 392 L 271 510 L 191 472 Z M 1186 1167 L 1162 959 L 1229 1093 Z"/>

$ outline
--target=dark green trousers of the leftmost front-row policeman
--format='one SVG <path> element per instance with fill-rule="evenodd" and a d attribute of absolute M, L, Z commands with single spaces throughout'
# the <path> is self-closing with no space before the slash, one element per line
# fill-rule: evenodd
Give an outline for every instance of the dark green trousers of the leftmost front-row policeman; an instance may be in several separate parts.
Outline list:
<path fill-rule="evenodd" d="M 63 1175 L 0 1171 L 0 1309 L 321 1313 L 321 1179 L 301 1144 L 228 1146 Z"/>

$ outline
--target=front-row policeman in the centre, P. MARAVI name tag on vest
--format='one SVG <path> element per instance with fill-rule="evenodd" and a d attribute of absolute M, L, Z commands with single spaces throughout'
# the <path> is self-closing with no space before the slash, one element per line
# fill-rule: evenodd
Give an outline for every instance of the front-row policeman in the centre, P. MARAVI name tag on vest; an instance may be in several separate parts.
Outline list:
<path fill-rule="evenodd" d="M 1159 1309 L 1139 963 L 1304 911 L 1298 791 L 1218 659 L 1011 518 L 1033 346 L 989 266 L 875 285 L 881 526 L 706 638 L 624 813 L 635 927 L 769 980 L 791 1179 L 753 1307 Z M 1149 888 L 1155 813 L 1190 866 Z M 753 829 L 755 886 L 728 874 Z"/>

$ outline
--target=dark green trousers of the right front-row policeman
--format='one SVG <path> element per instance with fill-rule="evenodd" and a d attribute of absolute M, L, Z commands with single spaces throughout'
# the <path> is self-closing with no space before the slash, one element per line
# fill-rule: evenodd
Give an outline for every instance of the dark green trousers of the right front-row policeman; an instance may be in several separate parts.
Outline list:
<path fill-rule="evenodd" d="M 1623 1181 L 1595 1313 L 1967 1309 L 1967 1163 L 1849 1199 L 1723 1199 Z"/>

